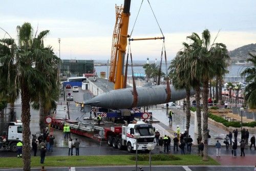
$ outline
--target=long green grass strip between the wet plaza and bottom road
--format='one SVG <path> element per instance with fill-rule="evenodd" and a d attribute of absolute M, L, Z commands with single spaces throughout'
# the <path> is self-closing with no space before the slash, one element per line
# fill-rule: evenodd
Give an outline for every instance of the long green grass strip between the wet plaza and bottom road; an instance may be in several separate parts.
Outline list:
<path fill-rule="evenodd" d="M 135 165 L 134 156 L 46 156 L 44 166 L 101 166 Z M 139 165 L 148 165 L 148 155 L 138 155 Z M 168 159 L 168 160 L 166 160 Z M 100 162 L 99 162 L 100 161 Z M 31 157 L 31 167 L 40 167 L 40 157 Z M 152 155 L 152 165 L 220 165 L 209 157 L 204 162 L 197 155 Z M 23 167 L 23 159 L 16 157 L 0 158 L 0 168 Z"/>

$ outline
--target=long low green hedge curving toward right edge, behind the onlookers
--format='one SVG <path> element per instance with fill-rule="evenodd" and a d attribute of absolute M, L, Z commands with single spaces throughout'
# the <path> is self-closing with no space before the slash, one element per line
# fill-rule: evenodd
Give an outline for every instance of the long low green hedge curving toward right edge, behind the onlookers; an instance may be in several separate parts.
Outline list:
<path fill-rule="evenodd" d="M 211 113 L 208 114 L 208 117 L 211 118 L 212 120 L 215 120 L 216 122 L 223 123 L 223 125 L 225 125 L 227 127 L 229 127 L 229 126 L 241 127 L 241 123 L 239 121 L 228 121 L 220 116 L 216 116 Z M 253 122 L 243 123 L 243 126 L 254 127 L 254 126 L 256 126 L 256 122 L 253 121 Z"/>

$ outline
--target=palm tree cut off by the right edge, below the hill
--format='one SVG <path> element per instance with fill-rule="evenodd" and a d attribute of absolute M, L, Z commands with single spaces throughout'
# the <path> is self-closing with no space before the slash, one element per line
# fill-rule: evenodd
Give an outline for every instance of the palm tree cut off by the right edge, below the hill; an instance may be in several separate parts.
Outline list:
<path fill-rule="evenodd" d="M 249 53 L 249 55 L 250 58 L 247 59 L 247 62 L 251 62 L 253 66 L 247 67 L 241 73 L 241 76 L 246 77 L 245 81 L 248 82 L 244 90 L 244 99 L 250 109 L 256 109 L 256 55 L 252 53 Z"/>

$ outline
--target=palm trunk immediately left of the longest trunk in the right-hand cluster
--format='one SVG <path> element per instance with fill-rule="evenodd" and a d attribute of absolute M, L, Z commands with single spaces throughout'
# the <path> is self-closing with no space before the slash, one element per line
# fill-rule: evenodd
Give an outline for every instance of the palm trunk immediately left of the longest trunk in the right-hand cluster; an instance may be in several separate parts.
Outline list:
<path fill-rule="evenodd" d="M 201 106 L 200 106 L 200 84 L 197 84 L 195 89 L 196 89 L 196 102 L 197 102 L 198 138 L 202 139 Z"/>

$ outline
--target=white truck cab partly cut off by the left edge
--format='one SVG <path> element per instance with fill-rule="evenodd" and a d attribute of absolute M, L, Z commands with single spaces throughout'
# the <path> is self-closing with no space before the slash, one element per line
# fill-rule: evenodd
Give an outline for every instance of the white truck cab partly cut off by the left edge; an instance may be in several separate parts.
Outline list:
<path fill-rule="evenodd" d="M 0 136 L 0 149 L 17 151 L 17 142 L 22 141 L 23 125 L 20 120 L 8 123 L 8 132 L 4 131 Z"/>

